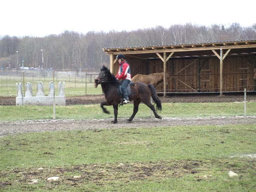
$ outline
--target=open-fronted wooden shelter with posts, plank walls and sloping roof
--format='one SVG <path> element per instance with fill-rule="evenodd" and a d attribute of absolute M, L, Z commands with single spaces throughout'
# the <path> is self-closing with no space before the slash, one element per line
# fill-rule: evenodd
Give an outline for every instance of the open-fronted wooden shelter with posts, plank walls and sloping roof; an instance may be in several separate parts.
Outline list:
<path fill-rule="evenodd" d="M 103 48 L 110 55 L 110 71 L 119 68 L 123 53 L 132 75 L 164 72 L 156 90 L 164 92 L 223 92 L 256 90 L 256 40 L 197 44 Z M 166 79 L 166 73 L 170 78 Z"/>

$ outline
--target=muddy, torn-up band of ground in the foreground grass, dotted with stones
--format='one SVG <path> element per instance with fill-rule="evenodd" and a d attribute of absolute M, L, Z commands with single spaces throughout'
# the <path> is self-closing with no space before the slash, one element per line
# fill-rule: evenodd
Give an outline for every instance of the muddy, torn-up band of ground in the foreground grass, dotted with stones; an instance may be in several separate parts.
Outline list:
<path fill-rule="evenodd" d="M 32 179 L 38 179 L 39 184 L 45 184 L 44 188 L 51 190 L 56 185 L 83 186 L 88 183 L 95 185 L 108 185 L 113 182 L 129 183 L 130 181 L 148 180 L 158 181 L 163 178 L 180 178 L 192 175 L 197 181 L 211 179 L 212 170 L 220 169 L 228 172 L 230 169 L 243 173 L 248 169 L 254 170 L 255 159 L 237 160 L 239 166 L 226 160 L 169 160 L 157 162 L 134 163 L 103 163 L 84 164 L 70 167 L 44 167 L 38 171 L 38 167 L 28 169 L 12 169 L 1 171 L 0 187 L 8 188 L 9 185 L 26 186 Z M 207 174 L 206 174 L 207 173 Z M 12 175 L 11 178 L 8 175 Z M 58 181 L 46 181 L 52 175 L 59 177 Z M 73 178 L 81 175 L 80 178 Z M 214 179 L 214 177 L 213 177 Z"/>

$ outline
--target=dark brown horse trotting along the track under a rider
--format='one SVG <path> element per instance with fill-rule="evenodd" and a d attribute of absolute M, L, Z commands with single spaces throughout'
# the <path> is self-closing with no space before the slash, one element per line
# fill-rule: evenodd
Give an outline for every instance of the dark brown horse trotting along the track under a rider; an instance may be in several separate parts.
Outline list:
<path fill-rule="evenodd" d="M 121 96 L 118 94 L 118 87 L 120 82 L 116 80 L 115 76 L 110 73 L 109 69 L 103 65 L 99 76 L 95 79 L 95 88 L 101 84 L 102 90 L 105 94 L 105 99 L 107 101 L 101 103 L 101 108 L 104 113 L 109 114 L 109 111 L 105 109 L 104 105 L 113 105 L 115 119 L 113 123 L 117 123 L 117 110 L 118 104 L 121 102 Z M 132 121 L 136 115 L 140 102 L 145 103 L 153 112 L 156 118 L 161 119 L 161 117 L 156 113 L 154 105 L 150 102 L 150 97 L 152 96 L 154 102 L 156 103 L 156 108 L 161 110 L 162 105 L 159 97 L 156 95 L 155 88 L 153 85 L 146 85 L 141 82 L 134 83 L 131 85 L 131 95 L 130 100 L 134 101 L 133 114 L 128 119 L 128 122 Z"/>

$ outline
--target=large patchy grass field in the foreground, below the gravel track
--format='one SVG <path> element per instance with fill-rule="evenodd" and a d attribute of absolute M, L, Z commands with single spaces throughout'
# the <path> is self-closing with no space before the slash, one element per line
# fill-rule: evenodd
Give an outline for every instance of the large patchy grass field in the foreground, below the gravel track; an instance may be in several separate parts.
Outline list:
<path fill-rule="evenodd" d="M 255 191 L 256 160 L 239 157 L 256 153 L 255 126 L 76 130 L 1 137 L 1 191 Z M 229 178 L 229 171 L 238 177 Z M 73 175 L 82 177 L 76 180 Z M 47 182 L 52 176 L 60 180 Z M 28 185 L 31 179 L 39 183 Z"/>

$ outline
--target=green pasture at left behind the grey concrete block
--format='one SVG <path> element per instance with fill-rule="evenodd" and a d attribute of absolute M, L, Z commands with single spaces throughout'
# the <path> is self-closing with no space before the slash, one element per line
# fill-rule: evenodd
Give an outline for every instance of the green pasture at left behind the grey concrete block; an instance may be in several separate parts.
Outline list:
<path fill-rule="evenodd" d="M 7 86 L 6 86 L 6 77 L 7 77 Z M 44 91 L 47 95 L 49 92 L 49 83 L 52 81 L 52 78 L 47 77 L 44 81 L 44 78 L 40 78 L 40 81 L 44 84 Z M 70 80 L 70 81 L 69 81 Z M 65 95 L 66 96 L 79 96 L 79 95 L 85 95 L 85 79 L 76 79 L 75 78 L 58 78 L 59 81 L 65 82 Z M 90 79 L 87 80 L 89 82 Z M 11 79 L 9 79 L 9 76 L 0 76 L 0 96 L 16 96 L 17 94 L 17 88 L 16 83 L 23 83 L 23 79 L 20 77 L 13 77 L 11 76 Z M 30 82 L 32 84 L 33 94 L 36 94 L 36 85 L 37 82 L 39 82 L 39 79 L 32 80 L 32 77 L 26 77 L 25 83 Z M 92 81 L 93 82 L 93 81 Z M 55 78 L 55 89 L 57 89 L 57 79 Z M 99 86 L 97 89 L 95 89 L 93 83 L 87 83 L 87 94 L 102 94 L 101 86 Z"/>

